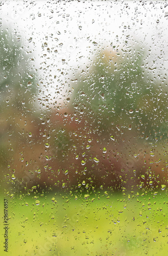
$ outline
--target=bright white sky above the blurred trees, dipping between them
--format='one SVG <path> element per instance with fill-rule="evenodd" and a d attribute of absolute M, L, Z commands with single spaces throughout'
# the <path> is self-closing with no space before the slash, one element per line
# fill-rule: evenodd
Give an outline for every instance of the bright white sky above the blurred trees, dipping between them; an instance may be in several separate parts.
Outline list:
<path fill-rule="evenodd" d="M 74 70 L 85 69 L 95 50 L 107 47 L 111 42 L 119 45 L 120 49 L 126 49 L 136 41 L 142 42 L 147 49 L 151 48 L 149 67 L 153 67 L 154 59 L 157 72 L 163 73 L 164 69 L 167 72 L 166 1 L 57 2 L 3 1 L 1 7 L 2 25 L 16 29 L 24 45 L 33 50 L 40 81 L 48 89 L 45 95 L 52 94 L 50 102 L 53 95 L 58 102 L 66 98 L 67 87 L 64 84 L 68 84 Z M 125 45 L 126 40 L 128 45 Z M 45 42 L 47 46 L 42 47 Z M 54 50 L 58 53 L 54 53 Z M 65 63 L 62 59 L 65 59 Z M 64 75 L 60 75 L 58 69 Z M 58 95 L 60 87 L 62 93 Z"/>

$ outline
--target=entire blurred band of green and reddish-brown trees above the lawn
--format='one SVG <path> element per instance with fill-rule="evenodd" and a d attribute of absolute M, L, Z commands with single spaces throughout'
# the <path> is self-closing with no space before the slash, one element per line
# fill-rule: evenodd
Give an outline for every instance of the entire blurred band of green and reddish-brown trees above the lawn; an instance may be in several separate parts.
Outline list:
<path fill-rule="evenodd" d="M 153 143 L 165 136 L 159 130 L 167 118 L 167 98 L 147 78 L 142 50 L 131 49 L 124 57 L 97 53 L 92 66 L 78 74 L 67 108 L 38 117 L 31 52 L 13 32 L 1 36 L 1 162 L 9 167 L 9 182 L 28 193 L 33 185 L 125 191 L 140 181 L 166 182 L 163 173 L 154 174 L 165 166 L 165 151 L 143 148 L 145 138 Z"/>

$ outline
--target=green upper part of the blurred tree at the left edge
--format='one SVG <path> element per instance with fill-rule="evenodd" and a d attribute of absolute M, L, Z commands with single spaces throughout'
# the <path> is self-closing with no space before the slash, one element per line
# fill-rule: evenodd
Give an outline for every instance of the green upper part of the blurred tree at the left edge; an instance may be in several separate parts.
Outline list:
<path fill-rule="evenodd" d="M 14 109 L 31 108 L 37 88 L 32 52 L 25 50 L 21 36 L 7 28 L 0 31 L 0 53 L 0 103 L 6 99 Z"/>

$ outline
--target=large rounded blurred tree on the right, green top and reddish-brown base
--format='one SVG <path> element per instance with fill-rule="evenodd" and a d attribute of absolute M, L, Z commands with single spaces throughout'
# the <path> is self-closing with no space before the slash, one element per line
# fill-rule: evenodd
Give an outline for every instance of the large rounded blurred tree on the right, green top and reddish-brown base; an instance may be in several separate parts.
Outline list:
<path fill-rule="evenodd" d="M 145 71 L 144 56 L 138 48 L 124 56 L 101 51 L 91 67 L 75 77 L 76 87 L 68 105 L 72 111 L 63 115 L 69 121 L 58 126 L 58 131 L 64 130 L 61 138 L 65 148 L 75 147 L 77 159 L 85 165 L 75 165 L 79 183 L 91 179 L 95 185 L 131 189 L 144 174 L 149 187 L 167 182 L 167 175 L 162 173 L 167 166 L 163 148 L 167 95 L 158 80 L 154 82 Z M 59 141 L 55 143 L 58 148 Z M 63 153 L 73 165 L 72 152 L 68 154 L 66 150 Z"/>

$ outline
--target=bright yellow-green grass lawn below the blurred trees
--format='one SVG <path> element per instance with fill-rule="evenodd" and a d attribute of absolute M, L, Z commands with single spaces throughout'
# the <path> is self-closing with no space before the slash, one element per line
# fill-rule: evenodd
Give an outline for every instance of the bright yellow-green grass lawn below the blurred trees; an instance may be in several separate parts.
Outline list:
<path fill-rule="evenodd" d="M 1 225 L 0 254 L 166 255 L 166 193 L 129 195 L 97 193 L 88 199 L 79 195 L 76 200 L 73 193 L 8 197 L 9 248 L 8 253 L 3 251 Z"/>

